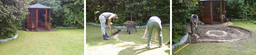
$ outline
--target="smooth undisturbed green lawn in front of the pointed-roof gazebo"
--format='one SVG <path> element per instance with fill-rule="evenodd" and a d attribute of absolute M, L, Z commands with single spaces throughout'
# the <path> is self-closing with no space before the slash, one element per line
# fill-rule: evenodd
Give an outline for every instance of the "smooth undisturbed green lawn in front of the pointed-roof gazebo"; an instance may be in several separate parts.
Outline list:
<path fill-rule="evenodd" d="M 83 55 L 84 29 L 53 32 L 18 30 L 18 38 L 0 43 L 0 55 Z"/>

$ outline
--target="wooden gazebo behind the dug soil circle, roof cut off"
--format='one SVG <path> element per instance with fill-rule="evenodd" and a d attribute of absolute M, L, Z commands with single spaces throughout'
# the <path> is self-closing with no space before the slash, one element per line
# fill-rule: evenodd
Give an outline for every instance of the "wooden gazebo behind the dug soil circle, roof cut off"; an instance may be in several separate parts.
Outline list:
<path fill-rule="evenodd" d="M 226 0 L 200 0 L 201 21 L 205 24 L 223 23 L 226 19 L 225 14 Z M 223 5 L 224 4 L 224 5 Z M 222 8 L 224 7 L 224 8 Z"/>

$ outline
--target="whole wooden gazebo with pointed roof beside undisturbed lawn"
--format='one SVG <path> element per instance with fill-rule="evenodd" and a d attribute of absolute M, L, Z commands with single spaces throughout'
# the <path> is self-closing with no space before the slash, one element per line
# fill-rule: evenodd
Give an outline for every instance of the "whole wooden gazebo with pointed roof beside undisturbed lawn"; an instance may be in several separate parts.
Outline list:
<path fill-rule="evenodd" d="M 27 29 L 47 30 L 51 21 L 51 8 L 37 3 L 29 6 L 28 12 L 26 19 Z"/>

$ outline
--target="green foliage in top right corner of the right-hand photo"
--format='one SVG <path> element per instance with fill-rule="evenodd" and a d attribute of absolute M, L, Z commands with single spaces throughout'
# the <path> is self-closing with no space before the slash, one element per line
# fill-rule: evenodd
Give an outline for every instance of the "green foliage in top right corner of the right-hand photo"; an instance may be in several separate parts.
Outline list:
<path fill-rule="evenodd" d="M 256 14 L 252 12 L 251 8 L 256 10 L 256 0 L 227 0 L 227 18 L 242 19 L 247 12 L 247 18 L 255 19 Z"/>

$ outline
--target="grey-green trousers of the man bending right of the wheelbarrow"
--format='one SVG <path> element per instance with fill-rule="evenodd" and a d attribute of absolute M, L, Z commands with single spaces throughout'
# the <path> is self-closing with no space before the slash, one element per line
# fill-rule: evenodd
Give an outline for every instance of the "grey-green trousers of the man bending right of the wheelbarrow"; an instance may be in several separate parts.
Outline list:
<path fill-rule="evenodd" d="M 149 21 L 149 34 L 148 34 L 148 46 L 150 46 L 150 42 L 151 42 L 151 35 L 152 35 L 152 31 L 155 28 L 156 31 L 158 32 L 158 40 L 159 40 L 159 45 L 162 45 L 162 26 L 161 26 L 161 22 L 159 21 Z"/>

